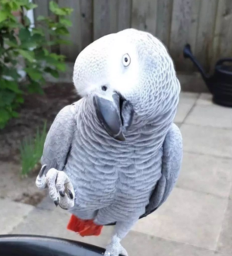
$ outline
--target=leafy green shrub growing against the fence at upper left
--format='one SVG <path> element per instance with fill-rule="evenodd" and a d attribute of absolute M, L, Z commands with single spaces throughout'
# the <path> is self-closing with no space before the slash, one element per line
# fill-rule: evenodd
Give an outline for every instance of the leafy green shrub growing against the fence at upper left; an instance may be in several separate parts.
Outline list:
<path fill-rule="evenodd" d="M 67 27 L 71 22 L 66 16 L 72 9 L 60 8 L 51 1 L 52 15 L 39 16 L 41 26 L 34 28 L 26 12 L 36 7 L 29 0 L 0 0 L 0 129 L 18 116 L 16 110 L 26 93 L 43 93 L 45 74 L 58 78 L 59 71 L 65 71 L 64 56 L 49 49 L 69 43 L 63 36 L 69 35 Z M 12 15 L 16 11 L 20 11 L 21 22 Z M 46 39 L 46 33 L 50 40 Z M 26 72 L 23 79 L 19 75 L 19 61 Z"/>

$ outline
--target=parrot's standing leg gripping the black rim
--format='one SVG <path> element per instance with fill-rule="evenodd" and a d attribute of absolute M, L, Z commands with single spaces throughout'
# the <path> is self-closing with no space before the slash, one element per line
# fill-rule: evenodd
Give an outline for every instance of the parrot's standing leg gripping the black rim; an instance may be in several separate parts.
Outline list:
<path fill-rule="evenodd" d="M 114 228 L 114 235 L 111 243 L 107 245 L 104 256 L 118 256 L 122 254 L 128 256 L 127 251 L 121 246 L 121 240 L 128 234 L 131 227 L 136 223 L 137 220 L 131 221 L 118 221 Z"/>

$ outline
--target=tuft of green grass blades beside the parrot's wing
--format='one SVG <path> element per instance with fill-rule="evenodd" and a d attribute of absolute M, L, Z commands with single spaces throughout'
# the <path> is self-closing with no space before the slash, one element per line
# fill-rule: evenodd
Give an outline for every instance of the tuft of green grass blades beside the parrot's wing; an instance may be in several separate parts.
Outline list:
<path fill-rule="evenodd" d="M 21 175 L 26 176 L 38 166 L 43 154 L 43 146 L 46 140 L 46 122 L 43 129 L 36 130 L 36 137 L 26 137 L 20 145 Z"/>

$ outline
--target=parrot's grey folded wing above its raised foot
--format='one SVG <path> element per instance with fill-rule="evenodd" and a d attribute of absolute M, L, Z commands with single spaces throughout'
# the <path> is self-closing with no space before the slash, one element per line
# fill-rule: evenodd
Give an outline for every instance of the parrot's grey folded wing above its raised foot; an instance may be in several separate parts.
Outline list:
<path fill-rule="evenodd" d="M 41 158 L 41 164 L 46 164 L 46 171 L 50 168 L 62 171 L 67 163 L 73 133 L 77 127 L 74 109 L 73 105 L 61 109 L 50 127 Z"/>

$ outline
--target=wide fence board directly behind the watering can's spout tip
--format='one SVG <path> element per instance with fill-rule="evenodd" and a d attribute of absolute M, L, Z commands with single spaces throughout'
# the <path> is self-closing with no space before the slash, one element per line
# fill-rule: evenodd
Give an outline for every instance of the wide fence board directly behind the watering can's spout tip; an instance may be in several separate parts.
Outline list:
<path fill-rule="evenodd" d="M 169 50 L 175 60 L 176 69 L 193 71 L 190 61 L 183 58 L 183 47 L 190 43 L 195 50 L 197 22 L 199 16 L 199 0 L 174 0 L 172 8 L 172 28 Z"/>

